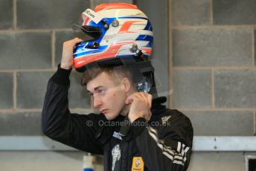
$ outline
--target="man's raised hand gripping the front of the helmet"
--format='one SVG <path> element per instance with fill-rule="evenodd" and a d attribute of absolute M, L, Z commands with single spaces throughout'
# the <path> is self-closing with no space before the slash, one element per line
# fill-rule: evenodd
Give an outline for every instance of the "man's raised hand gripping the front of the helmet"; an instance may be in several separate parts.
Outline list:
<path fill-rule="evenodd" d="M 74 38 L 63 43 L 63 57 L 60 62 L 60 68 L 71 69 L 73 62 L 73 51 L 77 43 L 83 42 L 83 39 Z"/>

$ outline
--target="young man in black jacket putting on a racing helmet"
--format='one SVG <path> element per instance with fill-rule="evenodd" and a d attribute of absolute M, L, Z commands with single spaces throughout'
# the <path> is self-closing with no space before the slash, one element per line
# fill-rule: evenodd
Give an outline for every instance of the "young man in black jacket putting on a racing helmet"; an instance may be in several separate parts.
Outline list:
<path fill-rule="evenodd" d="M 45 135 L 103 155 L 104 170 L 187 170 L 193 128 L 184 114 L 161 105 L 164 97 L 153 98 L 153 67 L 147 60 L 153 33 L 147 16 L 135 5 L 101 4 L 86 10 L 82 27 L 75 27 L 90 38 L 80 33 L 83 39 L 63 44 L 62 61 L 45 95 Z M 84 71 L 83 85 L 99 114 L 69 112 L 73 65 Z"/>

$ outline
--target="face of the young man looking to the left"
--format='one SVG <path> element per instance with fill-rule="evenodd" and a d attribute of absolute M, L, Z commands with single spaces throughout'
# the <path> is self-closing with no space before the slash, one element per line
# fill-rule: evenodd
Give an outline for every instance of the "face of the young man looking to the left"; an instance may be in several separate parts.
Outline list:
<path fill-rule="evenodd" d="M 111 77 L 106 72 L 99 74 L 86 85 L 92 94 L 93 104 L 107 120 L 113 120 L 124 109 L 127 94 L 121 80 Z"/>

